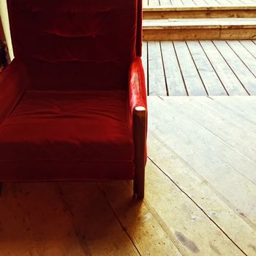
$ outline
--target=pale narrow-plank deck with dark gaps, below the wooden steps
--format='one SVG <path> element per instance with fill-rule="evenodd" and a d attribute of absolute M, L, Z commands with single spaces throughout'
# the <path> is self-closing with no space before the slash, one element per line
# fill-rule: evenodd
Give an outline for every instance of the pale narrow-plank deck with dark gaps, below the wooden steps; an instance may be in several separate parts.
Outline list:
<path fill-rule="evenodd" d="M 256 95 L 256 41 L 143 42 L 148 95 Z"/>

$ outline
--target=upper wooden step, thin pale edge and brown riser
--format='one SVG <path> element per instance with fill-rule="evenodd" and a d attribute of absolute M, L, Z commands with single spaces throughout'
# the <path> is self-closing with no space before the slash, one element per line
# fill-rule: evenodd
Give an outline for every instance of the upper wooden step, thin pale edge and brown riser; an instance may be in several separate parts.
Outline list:
<path fill-rule="evenodd" d="M 256 4 L 143 8 L 143 19 L 161 18 L 256 18 Z"/>

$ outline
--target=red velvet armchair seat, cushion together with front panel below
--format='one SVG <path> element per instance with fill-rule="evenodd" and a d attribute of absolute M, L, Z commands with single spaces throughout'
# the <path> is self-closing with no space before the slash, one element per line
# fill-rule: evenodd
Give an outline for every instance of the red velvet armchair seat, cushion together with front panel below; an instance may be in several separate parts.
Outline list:
<path fill-rule="evenodd" d="M 0 180 L 133 178 L 125 91 L 28 91 L 0 126 Z"/>

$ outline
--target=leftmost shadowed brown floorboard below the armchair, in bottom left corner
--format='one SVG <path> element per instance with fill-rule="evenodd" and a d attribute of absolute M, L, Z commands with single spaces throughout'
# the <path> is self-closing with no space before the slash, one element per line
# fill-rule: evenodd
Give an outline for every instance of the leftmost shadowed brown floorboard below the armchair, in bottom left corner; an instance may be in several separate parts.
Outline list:
<path fill-rule="evenodd" d="M 4 184 L 0 219 L 2 256 L 90 254 L 53 184 Z"/>

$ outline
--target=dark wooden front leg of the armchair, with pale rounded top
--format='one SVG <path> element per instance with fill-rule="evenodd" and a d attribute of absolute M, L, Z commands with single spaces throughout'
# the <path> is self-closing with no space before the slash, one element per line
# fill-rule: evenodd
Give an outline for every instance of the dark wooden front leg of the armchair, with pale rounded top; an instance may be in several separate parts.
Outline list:
<path fill-rule="evenodd" d="M 135 178 L 133 192 L 136 199 L 143 199 L 146 162 L 146 108 L 137 107 L 133 112 L 135 141 Z"/>

